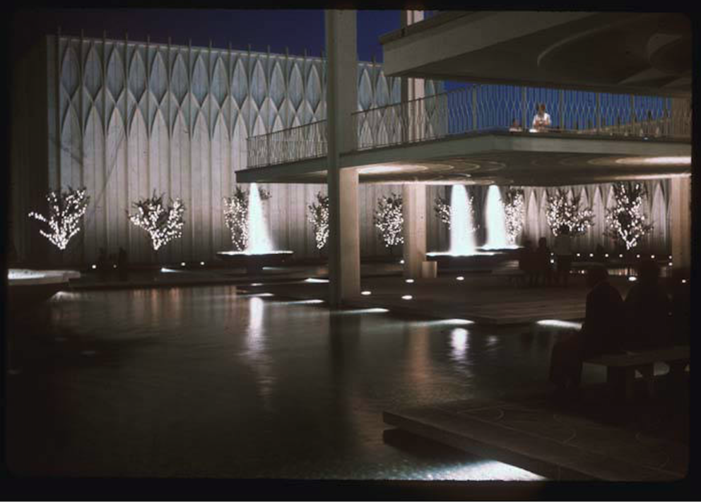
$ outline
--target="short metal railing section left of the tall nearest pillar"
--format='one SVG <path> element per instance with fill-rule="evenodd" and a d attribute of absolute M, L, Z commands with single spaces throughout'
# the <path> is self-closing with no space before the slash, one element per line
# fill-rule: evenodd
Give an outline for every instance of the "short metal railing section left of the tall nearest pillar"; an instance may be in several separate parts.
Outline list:
<path fill-rule="evenodd" d="M 326 121 L 320 120 L 247 139 L 248 167 L 294 162 L 326 155 Z"/>

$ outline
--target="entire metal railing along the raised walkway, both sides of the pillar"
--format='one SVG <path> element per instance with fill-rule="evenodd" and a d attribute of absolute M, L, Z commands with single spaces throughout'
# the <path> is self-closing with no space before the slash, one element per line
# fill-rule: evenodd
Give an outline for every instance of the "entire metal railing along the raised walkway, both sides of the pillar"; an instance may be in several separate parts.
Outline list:
<path fill-rule="evenodd" d="M 550 126 L 534 128 L 539 104 Z M 525 124 L 525 126 L 524 126 Z M 473 85 L 353 114 L 356 150 L 485 131 L 691 138 L 688 102 L 669 97 Z M 248 139 L 248 166 L 326 155 L 326 121 Z"/>

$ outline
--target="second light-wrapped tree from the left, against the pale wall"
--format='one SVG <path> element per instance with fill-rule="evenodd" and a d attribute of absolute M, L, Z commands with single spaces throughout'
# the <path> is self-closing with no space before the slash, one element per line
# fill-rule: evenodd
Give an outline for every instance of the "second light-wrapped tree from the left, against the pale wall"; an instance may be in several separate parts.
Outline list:
<path fill-rule="evenodd" d="M 179 198 L 171 199 L 170 205 L 166 206 L 163 205 L 163 194 L 157 196 L 154 190 L 153 196 L 139 199 L 133 205 L 136 213 L 127 213 L 129 221 L 148 232 L 154 251 L 182 236 L 185 206 Z"/>

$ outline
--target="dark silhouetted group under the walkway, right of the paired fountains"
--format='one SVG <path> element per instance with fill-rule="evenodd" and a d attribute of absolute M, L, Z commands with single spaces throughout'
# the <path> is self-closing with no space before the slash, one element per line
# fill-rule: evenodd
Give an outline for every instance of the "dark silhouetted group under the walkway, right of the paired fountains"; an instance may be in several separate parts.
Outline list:
<path fill-rule="evenodd" d="M 551 258 L 552 254 L 555 259 Z M 553 269 L 553 262 L 555 268 Z M 538 247 L 534 249 L 533 243 L 526 239 L 524 247 L 519 251 L 519 270 L 522 270 L 529 286 L 564 285 L 570 277 L 572 268 L 572 238 L 570 228 L 562 225 L 555 237 L 555 246 L 550 251 L 548 239 L 538 239 Z"/>

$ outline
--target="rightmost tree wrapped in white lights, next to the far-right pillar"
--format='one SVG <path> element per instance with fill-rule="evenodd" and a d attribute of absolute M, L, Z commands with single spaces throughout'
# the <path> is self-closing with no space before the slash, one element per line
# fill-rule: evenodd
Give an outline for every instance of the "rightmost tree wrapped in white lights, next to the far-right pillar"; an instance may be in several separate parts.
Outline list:
<path fill-rule="evenodd" d="M 625 246 L 634 248 L 640 239 L 652 229 L 642 213 L 642 198 L 647 195 L 640 183 L 616 183 L 613 185 L 615 205 L 606 210 L 606 235 Z"/>

